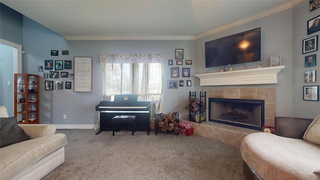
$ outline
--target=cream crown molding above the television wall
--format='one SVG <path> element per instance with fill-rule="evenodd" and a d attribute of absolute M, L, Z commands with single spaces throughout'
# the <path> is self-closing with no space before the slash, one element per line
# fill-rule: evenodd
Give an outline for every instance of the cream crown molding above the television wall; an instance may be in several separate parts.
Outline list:
<path fill-rule="evenodd" d="M 206 37 L 208 35 L 212 35 L 214 33 L 217 33 L 217 32 L 220 32 L 220 31 L 223 31 L 223 30 L 226 30 L 226 29 L 229 29 L 229 28 L 232 28 L 232 27 L 235 27 L 235 26 L 247 23 L 247 22 L 251 22 L 253 20 L 256 20 L 256 19 L 259 19 L 259 18 L 262 18 L 262 17 L 266 17 L 268 15 L 272 15 L 272 14 L 277 13 L 277 12 L 281 12 L 283 10 L 286 10 L 286 9 L 294 7 L 295 5 L 297 5 L 298 3 L 302 2 L 302 1 L 303 0 L 291 0 L 289 2 L 286 2 L 286 3 L 283 3 L 281 5 L 275 6 L 273 8 L 261 11 L 259 13 L 247 16 L 245 18 L 230 22 L 230 23 L 222 25 L 220 27 L 208 30 L 208 31 L 200 33 L 198 35 L 195 35 L 195 39 Z"/>

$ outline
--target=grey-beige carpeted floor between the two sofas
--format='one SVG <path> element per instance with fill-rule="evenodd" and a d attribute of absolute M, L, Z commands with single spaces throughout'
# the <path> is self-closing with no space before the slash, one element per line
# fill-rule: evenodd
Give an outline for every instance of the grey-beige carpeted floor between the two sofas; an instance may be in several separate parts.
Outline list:
<path fill-rule="evenodd" d="M 238 147 L 196 135 L 57 129 L 65 162 L 42 179 L 244 179 Z"/>

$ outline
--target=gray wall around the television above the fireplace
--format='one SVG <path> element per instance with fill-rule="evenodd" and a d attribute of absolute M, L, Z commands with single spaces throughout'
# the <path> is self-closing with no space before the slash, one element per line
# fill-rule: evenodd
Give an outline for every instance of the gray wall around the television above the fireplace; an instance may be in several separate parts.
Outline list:
<path fill-rule="evenodd" d="M 277 84 L 261 84 L 261 85 L 231 85 L 231 86 L 197 86 L 197 90 L 201 88 L 250 88 L 250 87 L 276 87 L 276 115 L 290 116 L 293 110 L 292 101 L 292 9 L 278 12 L 276 14 L 245 23 L 234 28 L 224 30 L 222 32 L 198 39 L 196 41 L 196 71 L 218 72 L 220 67 L 205 68 L 204 64 L 204 42 L 231 35 L 256 27 L 261 27 L 261 61 L 250 62 L 245 64 L 231 65 L 233 70 L 255 68 L 256 65 L 262 64 L 263 67 L 270 66 L 271 55 L 281 55 L 285 69 L 278 73 Z M 228 67 L 225 68 L 226 70 Z M 196 84 L 199 84 L 197 79 Z"/>

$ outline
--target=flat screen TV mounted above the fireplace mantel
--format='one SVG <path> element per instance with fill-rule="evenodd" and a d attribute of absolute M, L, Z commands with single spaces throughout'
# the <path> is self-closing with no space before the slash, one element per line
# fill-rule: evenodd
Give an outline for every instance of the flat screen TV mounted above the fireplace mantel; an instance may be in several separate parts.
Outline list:
<path fill-rule="evenodd" d="M 260 61 L 261 27 L 204 43 L 205 67 Z"/>

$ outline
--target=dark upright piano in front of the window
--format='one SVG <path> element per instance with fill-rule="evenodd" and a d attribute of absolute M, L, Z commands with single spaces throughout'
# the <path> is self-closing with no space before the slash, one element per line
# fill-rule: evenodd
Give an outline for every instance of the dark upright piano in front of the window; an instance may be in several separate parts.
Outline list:
<path fill-rule="evenodd" d="M 150 101 L 100 101 L 95 110 L 100 113 L 100 130 L 112 131 L 112 117 L 116 115 L 135 115 L 135 131 L 150 134 Z"/>

